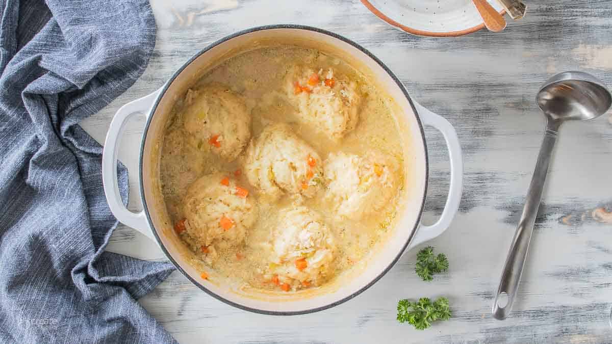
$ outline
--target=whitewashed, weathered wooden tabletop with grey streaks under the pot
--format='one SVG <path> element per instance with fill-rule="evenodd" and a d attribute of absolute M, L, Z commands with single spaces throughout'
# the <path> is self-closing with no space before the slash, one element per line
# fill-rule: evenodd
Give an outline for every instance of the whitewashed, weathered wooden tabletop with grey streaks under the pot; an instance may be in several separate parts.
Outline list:
<path fill-rule="evenodd" d="M 528 1 L 528 0 L 526 0 Z M 451 228 L 430 242 L 450 271 L 426 283 L 414 274 L 416 250 L 356 299 L 324 312 L 265 316 L 230 307 L 178 272 L 141 304 L 184 343 L 608 342 L 612 305 L 612 118 L 562 128 L 545 203 L 512 316 L 493 320 L 491 302 L 521 211 L 543 131 L 534 96 L 564 70 L 612 85 L 612 1 L 528 1 L 529 15 L 502 34 L 455 39 L 409 36 L 359 1 L 153 0 L 157 47 L 143 77 L 83 123 L 102 142 L 115 111 L 162 86 L 208 43 L 272 23 L 318 26 L 355 40 L 386 62 L 412 97 L 455 126 L 465 153 L 465 191 Z M 138 204 L 137 150 L 143 118 L 130 123 L 119 158 Z M 428 130 L 431 162 L 425 221 L 446 196 L 441 135 Z M 120 226 L 108 250 L 145 259 L 162 253 Z M 395 321 L 398 299 L 449 297 L 453 318 L 416 331 Z"/>

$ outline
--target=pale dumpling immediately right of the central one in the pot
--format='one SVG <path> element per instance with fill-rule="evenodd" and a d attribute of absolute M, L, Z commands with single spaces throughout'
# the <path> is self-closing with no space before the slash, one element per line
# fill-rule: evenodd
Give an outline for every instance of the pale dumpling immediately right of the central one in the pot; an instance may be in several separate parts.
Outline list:
<path fill-rule="evenodd" d="M 362 219 L 397 194 L 397 168 L 386 155 L 332 153 L 324 163 L 325 198 L 336 214 Z"/>

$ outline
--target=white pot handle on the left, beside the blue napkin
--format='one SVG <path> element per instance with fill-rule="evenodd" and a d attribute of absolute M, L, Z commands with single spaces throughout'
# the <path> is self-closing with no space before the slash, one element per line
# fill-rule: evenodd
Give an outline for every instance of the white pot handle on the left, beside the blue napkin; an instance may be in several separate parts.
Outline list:
<path fill-rule="evenodd" d="M 145 116 L 148 117 L 153 102 L 160 91 L 161 89 L 140 99 L 133 100 L 119 108 L 113 117 L 113 121 L 111 121 L 108 133 L 106 133 L 106 140 L 102 153 L 102 184 L 104 185 L 104 193 L 106 194 L 108 207 L 119 222 L 134 228 L 154 241 L 155 237 L 153 236 L 151 228 L 149 228 L 144 210 L 140 212 L 131 212 L 124 206 L 121 200 L 117 182 L 117 153 L 119 138 L 127 120 L 137 113 L 144 113 Z"/>

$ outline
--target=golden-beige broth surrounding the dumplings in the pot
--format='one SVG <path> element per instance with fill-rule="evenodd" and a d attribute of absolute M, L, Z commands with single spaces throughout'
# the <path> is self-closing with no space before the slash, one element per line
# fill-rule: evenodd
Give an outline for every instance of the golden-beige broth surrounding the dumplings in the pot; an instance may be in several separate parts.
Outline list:
<path fill-rule="evenodd" d="M 354 129 L 346 132 L 339 140 L 330 137 L 316 125 L 305 123 L 298 115 L 294 103 L 288 99 L 288 94 L 283 91 L 286 78 L 296 65 L 315 71 L 325 71 L 331 67 L 335 75 L 350 80 L 359 92 L 359 121 Z M 267 126 L 284 123 L 318 153 L 321 161 L 317 163 L 320 164 L 323 164 L 323 161 L 327 163 L 330 154 L 333 160 L 338 152 L 363 156 L 367 152 L 376 151 L 384 155 L 395 165 L 395 169 L 390 172 L 395 176 L 393 189 L 389 192 L 381 191 L 381 195 L 388 196 L 390 200 L 384 203 L 381 209 L 361 218 L 340 216 L 338 209 L 334 209 L 333 201 L 330 203 L 330 200 L 325 198 L 326 192 L 329 192 L 329 181 L 323 182 L 323 186 L 314 196 L 284 192 L 280 198 L 271 200 L 261 190 L 253 187 L 245 175 L 247 149 L 243 149 L 236 160 L 228 162 L 215 154 L 217 138 L 203 140 L 185 130 L 185 113 L 193 106 L 193 94 L 197 97 L 197 90 L 207 89 L 211 85 L 230 89 L 233 94 L 244 99 L 246 111 L 252 121 L 251 140 L 258 138 Z M 275 263 L 271 263 L 270 259 L 275 230 L 278 232 L 278 228 L 282 228 L 282 225 L 278 224 L 282 209 L 305 206 L 319 214 L 321 222 L 329 228 L 330 236 L 334 237 L 335 242 L 333 264 L 330 264 L 331 271 L 326 271 L 326 279 L 321 282 L 328 283 L 338 275 L 353 269 L 357 262 L 367 260 L 373 247 L 384 241 L 386 234 L 394 227 L 398 204 L 405 187 L 404 149 L 387 100 L 373 83 L 368 82 L 364 75 L 347 62 L 308 48 L 286 45 L 258 48 L 234 56 L 214 67 L 174 105 L 173 114 L 166 125 L 161 152 L 162 194 L 171 220 L 173 223 L 180 223 L 185 219 L 185 197 L 188 189 L 201 176 L 228 176 L 232 183 L 248 190 L 248 198 L 253 200 L 258 211 L 255 222 L 246 229 L 244 243 L 215 247 L 216 256 L 211 260 L 207 257 L 211 255 L 212 248 L 203 248 L 203 242 L 192 236 L 192 232 L 179 228 L 179 236 L 192 250 L 192 263 L 198 269 L 212 269 L 215 276 L 246 288 L 282 292 L 278 288 L 278 279 L 275 280 L 275 275 L 271 272 Z M 232 229 L 235 227 L 230 230 Z M 205 250 L 209 252 L 204 252 Z M 311 285 L 308 280 L 288 283 L 294 291 L 320 285 Z"/>

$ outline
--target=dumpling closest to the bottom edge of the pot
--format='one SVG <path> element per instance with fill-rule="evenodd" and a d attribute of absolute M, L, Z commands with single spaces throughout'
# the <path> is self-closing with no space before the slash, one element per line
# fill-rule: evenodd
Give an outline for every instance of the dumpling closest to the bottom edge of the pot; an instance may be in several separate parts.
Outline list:
<path fill-rule="evenodd" d="M 334 236 L 315 211 L 305 206 L 282 209 L 272 237 L 269 275 L 278 285 L 321 285 L 334 274 Z"/>

